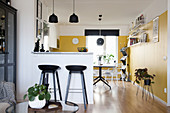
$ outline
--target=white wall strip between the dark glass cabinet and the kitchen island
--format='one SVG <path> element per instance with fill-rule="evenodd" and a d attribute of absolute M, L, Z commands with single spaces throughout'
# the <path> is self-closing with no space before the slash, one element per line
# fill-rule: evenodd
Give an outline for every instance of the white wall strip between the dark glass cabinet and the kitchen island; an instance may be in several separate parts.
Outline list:
<path fill-rule="evenodd" d="M 34 49 L 34 1 L 12 0 L 18 9 L 17 15 L 17 99 L 22 98 L 26 89 L 33 85 L 34 77 L 31 70 L 31 51 Z M 27 73 L 29 72 L 29 73 Z M 37 75 L 39 76 L 39 75 Z"/>

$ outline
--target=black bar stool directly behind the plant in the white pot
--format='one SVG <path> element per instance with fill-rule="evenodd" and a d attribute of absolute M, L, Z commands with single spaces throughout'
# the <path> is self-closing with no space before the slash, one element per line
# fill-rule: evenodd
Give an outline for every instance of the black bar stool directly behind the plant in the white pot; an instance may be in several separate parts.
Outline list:
<path fill-rule="evenodd" d="M 56 83 L 55 83 L 55 74 L 56 74 L 59 96 L 60 96 L 60 100 L 62 100 L 61 89 L 60 89 L 60 81 L 59 81 L 59 78 L 58 78 L 58 71 L 57 71 L 60 67 L 56 66 L 56 65 L 38 65 L 38 68 L 40 70 L 42 70 L 39 85 L 43 84 L 43 85 L 46 85 L 48 87 L 49 86 L 49 84 L 48 84 L 48 74 L 49 73 L 53 74 L 55 102 L 56 102 Z"/>

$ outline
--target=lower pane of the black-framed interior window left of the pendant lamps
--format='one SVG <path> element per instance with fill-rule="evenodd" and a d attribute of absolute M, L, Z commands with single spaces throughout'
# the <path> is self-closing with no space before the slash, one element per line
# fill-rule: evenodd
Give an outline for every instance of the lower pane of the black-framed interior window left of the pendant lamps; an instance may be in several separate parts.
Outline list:
<path fill-rule="evenodd" d="M 36 37 L 38 39 L 41 39 L 42 37 L 42 22 L 40 22 L 38 19 L 36 21 Z"/>

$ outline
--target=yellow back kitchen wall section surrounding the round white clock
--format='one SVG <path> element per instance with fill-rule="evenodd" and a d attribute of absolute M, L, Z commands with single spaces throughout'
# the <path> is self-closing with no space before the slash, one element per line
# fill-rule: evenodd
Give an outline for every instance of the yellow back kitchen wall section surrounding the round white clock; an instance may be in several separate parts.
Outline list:
<path fill-rule="evenodd" d="M 72 39 L 78 38 L 79 43 L 73 44 Z M 52 52 L 78 52 L 77 47 L 86 47 L 85 36 L 60 36 L 60 48 L 53 49 Z"/>

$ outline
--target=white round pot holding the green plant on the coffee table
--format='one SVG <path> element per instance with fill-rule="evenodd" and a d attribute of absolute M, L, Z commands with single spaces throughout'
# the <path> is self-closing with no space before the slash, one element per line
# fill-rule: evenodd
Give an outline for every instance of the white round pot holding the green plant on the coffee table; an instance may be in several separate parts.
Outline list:
<path fill-rule="evenodd" d="M 35 108 L 35 109 L 41 109 L 45 106 L 46 104 L 46 100 L 39 100 L 38 99 L 38 96 L 35 97 L 35 100 L 34 101 L 29 101 L 28 102 L 29 106 L 31 108 Z"/>

